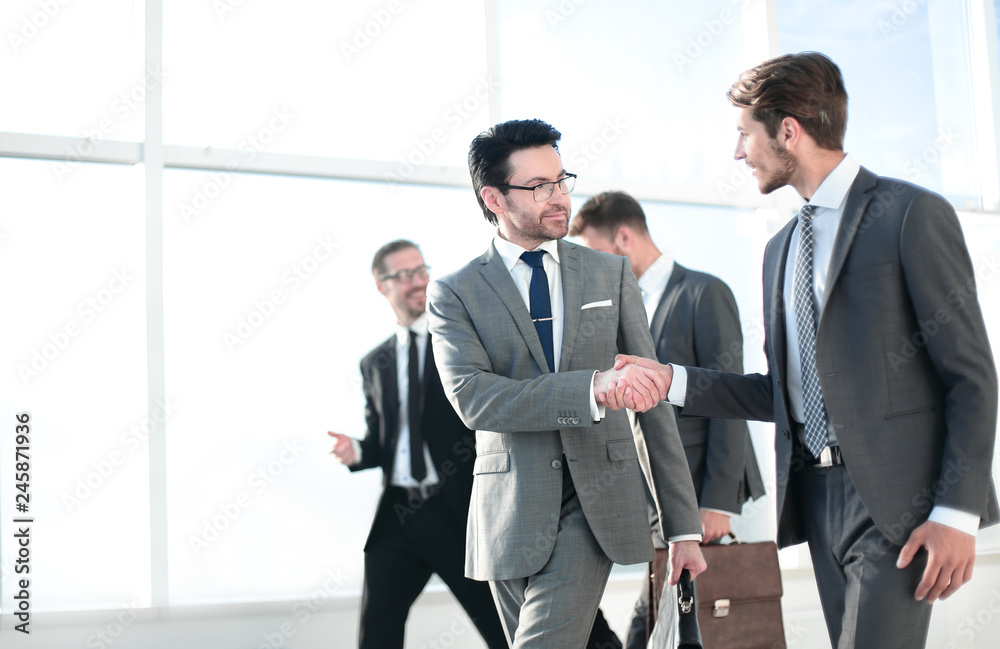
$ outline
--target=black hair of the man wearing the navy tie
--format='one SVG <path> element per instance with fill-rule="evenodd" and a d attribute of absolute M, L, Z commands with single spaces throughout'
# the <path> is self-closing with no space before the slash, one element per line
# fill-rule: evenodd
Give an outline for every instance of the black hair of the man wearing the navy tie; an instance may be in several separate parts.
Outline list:
<path fill-rule="evenodd" d="M 562 134 L 540 119 L 511 120 L 489 128 L 473 140 L 469 146 L 469 174 L 472 189 L 483 210 L 483 216 L 493 225 L 497 216 L 486 207 L 481 193 L 483 187 L 498 187 L 507 184 L 514 170 L 510 167 L 510 156 L 521 149 L 537 146 L 551 146 L 559 150 Z M 500 190 L 504 196 L 506 189 Z"/>

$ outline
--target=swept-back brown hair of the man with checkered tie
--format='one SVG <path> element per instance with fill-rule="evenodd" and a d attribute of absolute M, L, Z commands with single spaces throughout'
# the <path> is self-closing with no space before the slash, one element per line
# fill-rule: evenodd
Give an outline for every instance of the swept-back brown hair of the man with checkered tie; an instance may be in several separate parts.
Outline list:
<path fill-rule="evenodd" d="M 785 54 L 740 75 L 726 97 L 761 122 L 772 138 L 786 117 L 794 117 L 816 144 L 844 150 L 847 90 L 840 68 L 819 52 Z"/>

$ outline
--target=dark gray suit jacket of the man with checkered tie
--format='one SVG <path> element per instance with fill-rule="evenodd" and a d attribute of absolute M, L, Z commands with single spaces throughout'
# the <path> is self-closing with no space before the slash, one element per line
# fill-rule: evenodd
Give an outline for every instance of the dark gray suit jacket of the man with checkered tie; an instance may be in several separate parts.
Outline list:
<path fill-rule="evenodd" d="M 764 253 L 767 375 L 688 370 L 684 414 L 774 421 L 778 542 L 805 540 L 803 467 L 785 391 L 782 291 L 793 219 Z M 879 530 L 903 543 L 934 505 L 997 522 L 997 374 L 955 210 L 862 168 L 834 242 L 816 368 L 845 465 Z"/>

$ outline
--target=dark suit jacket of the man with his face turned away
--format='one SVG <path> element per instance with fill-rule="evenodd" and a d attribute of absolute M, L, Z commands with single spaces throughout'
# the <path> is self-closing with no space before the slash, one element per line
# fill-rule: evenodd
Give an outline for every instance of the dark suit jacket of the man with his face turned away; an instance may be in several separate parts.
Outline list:
<path fill-rule="evenodd" d="M 743 373 L 743 333 L 725 282 L 674 264 L 650 325 L 661 363 Z M 698 505 L 739 514 L 764 495 L 746 421 L 678 417 Z"/>

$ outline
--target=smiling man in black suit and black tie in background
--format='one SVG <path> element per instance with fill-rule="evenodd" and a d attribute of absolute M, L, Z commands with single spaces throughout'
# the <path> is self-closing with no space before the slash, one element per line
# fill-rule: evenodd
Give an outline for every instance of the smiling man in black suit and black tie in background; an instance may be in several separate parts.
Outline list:
<path fill-rule="evenodd" d="M 375 253 L 375 286 L 396 314 L 396 331 L 361 360 L 364 439 L 328 433 L 332 454 L 351 471 L 383 472 L 365 543 L 358 645 L 402 649 L 410 607 L 437 573 L 489 649 L 503 649 L 489 588 L 463 575 L 475 439 L 445 399 L 435 369 L 424 315 L 428 270 L 412 241 L 392 241 Z"/>

